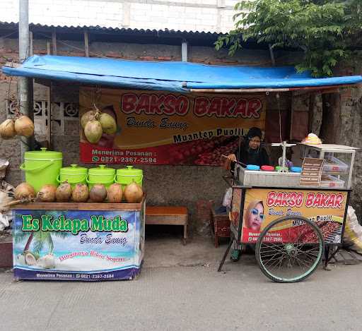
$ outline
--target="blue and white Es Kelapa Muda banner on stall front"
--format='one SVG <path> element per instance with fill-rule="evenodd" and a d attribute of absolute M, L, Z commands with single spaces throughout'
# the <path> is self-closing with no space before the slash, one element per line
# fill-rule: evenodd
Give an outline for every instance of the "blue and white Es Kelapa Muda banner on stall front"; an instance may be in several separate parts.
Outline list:
<path fill-rule="evenodd" d="M 144 215 L 136 211 L 14 210 L 17 279 L 132 279 L 144 256 Z"/>

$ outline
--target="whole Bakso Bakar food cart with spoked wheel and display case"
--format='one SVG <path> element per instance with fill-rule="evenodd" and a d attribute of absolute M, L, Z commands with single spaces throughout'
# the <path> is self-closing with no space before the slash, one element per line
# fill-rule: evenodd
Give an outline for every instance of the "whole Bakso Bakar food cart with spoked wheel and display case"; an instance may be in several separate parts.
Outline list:
<path fill-rule="evenodd" d="M 284 145 L 285 164 L 286 143 L 274 145 Z M 224 177 L 233 188 L 231 240 L 218 271 L 233 241 L 255 245 L 260 269 L 275 282 L 305 279 L 323 253 L 327 266 L 329 248 L 343 239 L 356 148 L 302 143 L 300 150 L 304 162 L 322 160 L 317 185 L 302 184 L 305 173 L 253 171 L 241 164 Z"/>

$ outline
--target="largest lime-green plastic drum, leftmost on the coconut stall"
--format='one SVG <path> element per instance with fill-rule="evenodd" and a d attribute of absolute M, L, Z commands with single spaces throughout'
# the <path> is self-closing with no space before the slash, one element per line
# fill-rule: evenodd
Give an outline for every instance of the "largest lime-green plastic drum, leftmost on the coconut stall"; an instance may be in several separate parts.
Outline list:
<path fill-rule="evenodd" d="M 41 150 L 25 152 L 24 163 L 21 164 L 20 169 L 25 171 L 25 181 L 38 192 L 45 184 L 58 186 L 57 178 L 62 162 L 62 152 L 41 148 Z"/>

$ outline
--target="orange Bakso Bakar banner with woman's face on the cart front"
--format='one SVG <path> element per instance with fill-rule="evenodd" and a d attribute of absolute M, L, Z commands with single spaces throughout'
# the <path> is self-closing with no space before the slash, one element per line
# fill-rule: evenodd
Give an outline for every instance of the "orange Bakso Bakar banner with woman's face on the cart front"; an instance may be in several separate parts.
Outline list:
<path fill-rule="evenodd" d="M 235 189 L 233 203 L 240 205 L 240 192 Z M 307 191 L 284 188 L 250 188 L 245 193 L 243 208 L 243 227 L 241 241 L 256 243 L 261 231 L 267 224 L 284 216 L 302 216 L 315 222 L 322 231 L 325 243 L 341 243 L 341 234 L 346 211 L 348 192 L 346 191 Z M 238 224 L 239 213 L 231 210 L 231 223 Z M 269 234 L 271 242 L 283 241 L 288 235 L 303 224 L 299 220 L 285 222 L 284 228 Z M 236 227 L 238 229 L 238 227 Z M 308 233 L 305 233 L 308 240 Z"/>

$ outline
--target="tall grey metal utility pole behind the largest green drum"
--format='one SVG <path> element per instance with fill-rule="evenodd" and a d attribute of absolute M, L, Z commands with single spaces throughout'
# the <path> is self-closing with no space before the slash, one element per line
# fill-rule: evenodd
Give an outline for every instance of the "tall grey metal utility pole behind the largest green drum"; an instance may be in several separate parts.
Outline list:
<path fill-rule="evenodd" d="M 30 55 L 29 49 L 29 1 L 19 0 L 19 60 L 22 64 Z M 34 121 L 33 111 L 33 79 L 18 77 L 18 102 L 20 111 Z M 21 163 L 24 152 L 33 146 L 33 138 L 21 137 Z"/>

